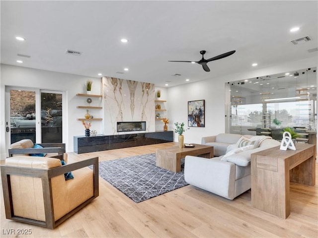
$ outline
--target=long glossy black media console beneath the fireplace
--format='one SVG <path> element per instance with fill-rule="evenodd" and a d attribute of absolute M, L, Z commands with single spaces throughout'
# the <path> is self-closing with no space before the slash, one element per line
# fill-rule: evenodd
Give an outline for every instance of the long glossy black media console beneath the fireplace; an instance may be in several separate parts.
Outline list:
<path fill-rule="evenodd" d="M 74 136 L 74 152 L 88 153 L 173 141 L 173 131 L 156 131 L 123 135 Z"/>

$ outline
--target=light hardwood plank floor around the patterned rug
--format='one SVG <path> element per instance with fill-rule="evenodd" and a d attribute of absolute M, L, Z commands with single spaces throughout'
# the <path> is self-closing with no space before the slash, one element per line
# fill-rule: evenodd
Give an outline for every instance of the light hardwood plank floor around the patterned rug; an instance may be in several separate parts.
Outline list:
<path fill-rule="evenodd" d="M 100 161 L 148 154 L 174 142 L 93 152 L 69 153 L 69 163 L 99 157 Z M 316 171 L 318 168 L 316 166 Z M 318 237 L 318 179 L 314 187 L 291 183 L 291 214 L 285 220 L 251 207 L 250 190 L 233 201 L 188 185 L 135 203 L 104 179 L 99 197 L 54 230 L 5 219 L 1 191 L 0 237 Z M 13 229 L 15 234 L 7 235 Z M 18 229 L 31 235 L 17 236 Z"/>

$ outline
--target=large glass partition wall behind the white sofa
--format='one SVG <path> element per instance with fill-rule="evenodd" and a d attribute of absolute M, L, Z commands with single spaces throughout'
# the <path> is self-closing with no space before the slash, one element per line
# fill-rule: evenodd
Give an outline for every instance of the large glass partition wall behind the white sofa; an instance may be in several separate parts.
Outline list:
<path fill-rule="evenodd" d="M 315 68 L 226 83 L 230 102 L 226 132 L 271 135 L 275 129 L 317 129 Z"/>

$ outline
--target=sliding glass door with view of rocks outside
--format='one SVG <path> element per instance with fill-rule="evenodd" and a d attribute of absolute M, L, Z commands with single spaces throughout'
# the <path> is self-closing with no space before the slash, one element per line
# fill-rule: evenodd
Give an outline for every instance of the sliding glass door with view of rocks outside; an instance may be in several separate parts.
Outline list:
<path fill-rule="evenodd" d="M 6 147 L 22 140 L 66 141 L 63 123 L 65 92 L 6 87 Z"/>

